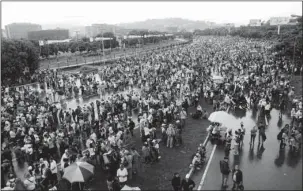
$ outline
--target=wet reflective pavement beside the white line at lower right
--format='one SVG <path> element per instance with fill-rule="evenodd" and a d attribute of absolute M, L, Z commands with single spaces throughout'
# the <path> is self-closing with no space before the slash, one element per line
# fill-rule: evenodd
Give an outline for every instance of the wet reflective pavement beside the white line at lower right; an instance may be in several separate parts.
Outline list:
<path fill-rule="evenodd" d="M 264 149 L 258 147 L 258 135 L 254 147 L 250 149 L 250 130 L 256 121 L 251 111 L 246 112 L 245 115 L 243 114 L 242 118 L 236 117 L 237 122 L 231 122 L 238 129 L 240 122 L 243 121 L 246 129 L 244 144 L 239 156 L 234 156 L 233 151 L 229 154 L 230 168 L 233 169 L 234 165 L 238 164 L 243 172 L 245 190 L 302 190 L 302 152 L 295 156 L 289 151 L 288 146 L 282 151 L 279 150 L 277 134 L 281 127 L 284 127 L 290 120 L 287 116 L 283 116 L 282 125 L 278 126 L 278 113 L 279 111 L 275 109 L 271 111 L 271 119 L 268 121 L 269 124 L 266 128 L 267 139 L 264 142 Z M 216 148 L 214 149 L 214 147 Z M 211 157 L 212 152 L 213 157 Z M 197 185 L 195 189 L 221 189 L 222 179 L 219 161 L 224 156 L 224 147 L 222 145 L 215 146 L 211 142 L 207 144 L 207 157 L 208 160 L 210 160 L 209 157 L 212 159 L 208 168 L 206 164 L 203 169 L 194 172 L 192 179 Z M 203 177 L 205 172 L 206 175 Z M 202 177 L 203 180 L 201 181 Z M 230 175 L 227 190 L 232 188 L 233 182 L 231 178 Z"/>

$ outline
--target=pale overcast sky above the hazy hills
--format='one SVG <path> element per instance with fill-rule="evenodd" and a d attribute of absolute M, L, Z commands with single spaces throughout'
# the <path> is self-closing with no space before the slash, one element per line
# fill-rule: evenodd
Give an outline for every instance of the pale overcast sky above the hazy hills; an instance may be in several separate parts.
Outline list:
<path fill-rule="evenodd" d="M 180 17 L 248 24 L 249 19 L 302 15 L 301 2 L 2 2 L 2 28 L 13 22 L 118 24 Z"/>

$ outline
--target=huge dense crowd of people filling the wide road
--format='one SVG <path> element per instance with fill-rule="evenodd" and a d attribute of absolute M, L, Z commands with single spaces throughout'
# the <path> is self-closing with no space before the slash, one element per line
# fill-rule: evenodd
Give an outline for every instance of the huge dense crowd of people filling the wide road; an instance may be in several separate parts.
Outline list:
<path fill-rule="evenodd" d="M 18 163 L 29 165 L 22 184 L 27 190 L 53 188 L 57 174 L 62 176 L 75 161 L 102 166 L 109 177 L 108 189 L 117 190 L 138 172 L 141 159 L 145 163 L 161 159 L 161 142 L 168 148 L 183 144 L 188 117 L 207 119 L 202 97 L 214 111 L 259 108 L 259 116 L 267 117 L 273 107 L 281 112 L 293 108 L 288 130 L 294 133 L 287 136 L 297 150 L 302 100 L 294 97 L 289 84 L 292 63 L 265 48 L 270 45 L 237 37 L 202 37 L 170 50 L 121 58 L 99 72 L 39 71 L 34 76 L 39 91 L 3 87 L 2 172 L 9 177 L 2 183 L 9 188 L 22 183 L 14 175 L 13 151 Z M 213 75 L 223 79 L 217 81 Z M 91 93 L 100 98 L 66 108 L 66 99 Z M 188 112 L 191 106 L 195 113 Z M 134 145 L 136 127 L 142 145 Z M 204 149 L 198 149 L 193 165 L 203 162 Z"/>

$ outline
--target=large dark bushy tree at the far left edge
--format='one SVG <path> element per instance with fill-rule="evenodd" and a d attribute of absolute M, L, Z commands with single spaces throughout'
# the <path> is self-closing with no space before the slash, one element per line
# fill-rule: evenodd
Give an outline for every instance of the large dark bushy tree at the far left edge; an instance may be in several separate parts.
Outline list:
<path fill-rule="evenodd" d="M 2 39 L 1 44 L 1 82 L 15 84 L 20 77 L 25 76 L 24 69 L 29 74 L 39 67 L 39 49 L 27 40 Z"/>

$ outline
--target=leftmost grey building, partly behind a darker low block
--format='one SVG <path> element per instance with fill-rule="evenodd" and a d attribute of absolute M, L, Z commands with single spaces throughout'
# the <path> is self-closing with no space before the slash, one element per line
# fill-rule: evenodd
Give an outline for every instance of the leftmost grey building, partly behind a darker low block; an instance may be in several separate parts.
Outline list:
<path fill-rule="evenodd" d="M 42 30 L 41 25 L 32 23 L 12 23 L 5 26 L 7 38 L 28 39 L 28 32 Z"/>

